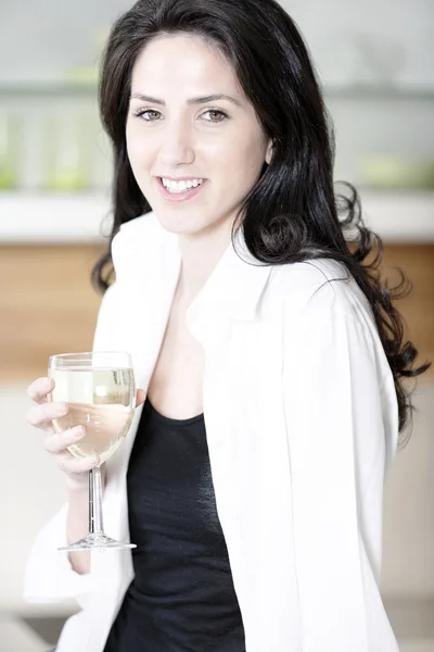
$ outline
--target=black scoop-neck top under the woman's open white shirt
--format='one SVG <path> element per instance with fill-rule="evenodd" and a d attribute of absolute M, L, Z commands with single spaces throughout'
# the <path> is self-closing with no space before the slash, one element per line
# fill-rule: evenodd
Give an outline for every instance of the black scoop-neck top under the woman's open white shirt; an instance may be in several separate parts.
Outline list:
<path fill-rule="evenodd" d="M 245 652 L 203 414 L 146 400 L 127 487 L 135 579 L 104 652 Z"/>

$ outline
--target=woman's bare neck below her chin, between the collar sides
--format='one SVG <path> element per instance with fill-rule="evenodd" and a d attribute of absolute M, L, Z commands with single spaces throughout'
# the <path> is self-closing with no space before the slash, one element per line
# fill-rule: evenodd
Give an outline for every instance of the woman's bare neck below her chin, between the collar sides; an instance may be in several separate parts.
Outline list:
<path fill-rule="evenodd" d="M 202 290 L 231 241 L 232 224 L 219 229 L 179 236 L 181 273 L 179 297 L 190 304 Z"/>

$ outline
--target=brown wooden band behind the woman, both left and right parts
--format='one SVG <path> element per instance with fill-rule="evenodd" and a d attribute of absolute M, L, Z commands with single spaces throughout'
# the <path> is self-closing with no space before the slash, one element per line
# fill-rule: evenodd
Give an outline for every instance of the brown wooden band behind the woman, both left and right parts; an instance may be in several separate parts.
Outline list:
<path fill-rule="evenodd" d="M 28 384 L 46 375 L 49 355 L 91 349 L 101 296 L 90 285 L 94 246 L 0 247 L 0 383 Z M 413 283 L 396 305 L 419 361 L 434 361 L 434 244 L 395 246 L 383 273 L 400 266 Z M 431 371 L 431 375 L 433 372 Z"/>

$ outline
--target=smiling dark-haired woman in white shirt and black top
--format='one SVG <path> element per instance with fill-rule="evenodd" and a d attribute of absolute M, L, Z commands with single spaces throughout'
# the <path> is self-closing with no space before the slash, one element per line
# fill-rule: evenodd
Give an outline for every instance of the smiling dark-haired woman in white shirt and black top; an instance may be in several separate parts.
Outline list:
<path fill-rule="evenodd" d="M 363 264 L 381 242 L 357 195 L 334 196 L 294 23 L 273 0 L 140 0 L 111 32 L 100 105 L 114 227 L 94 349 L 130 351 L 146 394 L 106 463 L 104 515 L 138 548 L 91 573 L 53 550 L 87 530 L 95 461 L 50 432 L 61 406 L 35 381 L 28 418 L 68 501 L 35 543 L 28 599 L 81 606 L 58 652 L 396 652 L 383 484 L 403 377 L 427 365 L 412 368 L 380 253 Z"/>

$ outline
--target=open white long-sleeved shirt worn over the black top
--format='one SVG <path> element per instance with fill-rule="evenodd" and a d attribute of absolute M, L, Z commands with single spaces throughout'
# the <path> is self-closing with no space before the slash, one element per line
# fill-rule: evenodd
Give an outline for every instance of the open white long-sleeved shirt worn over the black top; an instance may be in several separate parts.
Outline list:
<path fill-rule="evenodd" d="M 265 266 L 241 234 L 237 242 L 241 258 L 230 244 L 187 324 L 205 351 L 206 436 L 246 652 L 397 652 L 379 580 L 398 414 L 369 303 L 339 263 Z M 146 390 L 179 277 L 178 237 L 149 213 L 122 227 L 113 261 L 94 349 L 129 351 Z M 124 540 L 140 414 L 107 462 L 105 530 Z M 55 551 L 66 511 L 37 538 L 25 595 L 76 598 L 82 609 L 58 652 L 102 652 L 131 553 L 94 552 L 91 573 L 77 575 Z"/>

